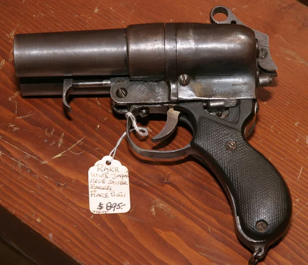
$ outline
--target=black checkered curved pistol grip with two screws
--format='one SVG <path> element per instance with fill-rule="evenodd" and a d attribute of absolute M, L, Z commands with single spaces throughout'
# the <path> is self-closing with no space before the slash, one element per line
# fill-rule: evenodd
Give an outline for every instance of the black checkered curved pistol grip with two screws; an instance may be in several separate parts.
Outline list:
<path fill-rule="evenodd" d="M 292 201 L 277 169 L 243 136 L 254 112 L 254 101 L 241 100 L 236 123 L 207 113 L 201 102 L 178 104 L 175 109 L 187 114 L 194 129 L 191 147 L 227 193 L 239 238 L 253 251 L 262 242 L 260 256 L 264 256 L 267 246 L 286 231 Z"/>

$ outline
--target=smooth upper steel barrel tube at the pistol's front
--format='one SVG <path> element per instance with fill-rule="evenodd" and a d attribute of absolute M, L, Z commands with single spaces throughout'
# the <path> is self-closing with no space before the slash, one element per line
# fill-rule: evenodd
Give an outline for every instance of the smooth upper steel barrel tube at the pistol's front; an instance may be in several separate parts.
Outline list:
<path fill-rule="evenodd" d="M 128 75 L 125 29 L 16 34 L 17 77 Z"/>

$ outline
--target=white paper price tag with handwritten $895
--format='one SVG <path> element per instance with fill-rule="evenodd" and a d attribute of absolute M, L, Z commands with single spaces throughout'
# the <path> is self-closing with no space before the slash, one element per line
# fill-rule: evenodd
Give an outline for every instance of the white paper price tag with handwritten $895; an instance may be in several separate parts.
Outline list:
<path fill-rule="evenodd" d="M 88 171 L 89 204 L 93 214 L 127 213 L 130 209 L 128 169 L 107 155 Z"/>

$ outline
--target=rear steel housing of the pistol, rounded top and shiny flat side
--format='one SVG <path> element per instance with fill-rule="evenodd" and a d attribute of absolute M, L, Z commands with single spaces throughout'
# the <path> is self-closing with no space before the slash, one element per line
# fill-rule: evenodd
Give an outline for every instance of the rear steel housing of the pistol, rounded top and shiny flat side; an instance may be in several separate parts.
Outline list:
<path fill-rule="evenodd" d="M 217 27 L 218 26 L 218 27 Z M 240 25 L 177 24 L 179 100 L 255 98 L 257 50 L 254 31 Z"/>

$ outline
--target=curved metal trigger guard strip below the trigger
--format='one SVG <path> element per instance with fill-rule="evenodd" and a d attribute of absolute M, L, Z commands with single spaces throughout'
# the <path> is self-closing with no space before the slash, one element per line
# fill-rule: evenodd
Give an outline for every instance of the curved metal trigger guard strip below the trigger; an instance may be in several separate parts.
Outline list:
<path fill-rule="evenodd" d="M 127 119 L 126 122 L 126 135 L 127 135 L 127 142 L 131 149 L 136 152 L 137 154 L 148 157 L 148 158 L 162 158 L 162 159 L 172 159 L 172 158 L 180 158 L 186 155 L 190 155 L 194 153 L 194 150 L 190 146 L 190 144 L 186 145 L 185 147 L 177 150 L 171 151 L 158 151 L 158 150 L 148 150 L 143 149 L 137 146 L 130 137 L 129 131 L 131 128 L 131 120 Z"/>

